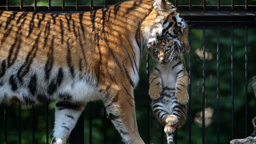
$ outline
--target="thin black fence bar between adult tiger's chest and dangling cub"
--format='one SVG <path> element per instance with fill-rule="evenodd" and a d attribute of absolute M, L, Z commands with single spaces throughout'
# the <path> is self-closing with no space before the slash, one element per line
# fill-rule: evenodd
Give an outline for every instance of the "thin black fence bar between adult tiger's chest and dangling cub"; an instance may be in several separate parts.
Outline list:
<path fill-rule="evenodd" d="M 149 144 L 149 109 L 150 109 L 150 104 L 149 104 L 149 95 L 148 95 L 148 89 L 149 89 L 149 56 L 147 54 L 147 144 Z"/>

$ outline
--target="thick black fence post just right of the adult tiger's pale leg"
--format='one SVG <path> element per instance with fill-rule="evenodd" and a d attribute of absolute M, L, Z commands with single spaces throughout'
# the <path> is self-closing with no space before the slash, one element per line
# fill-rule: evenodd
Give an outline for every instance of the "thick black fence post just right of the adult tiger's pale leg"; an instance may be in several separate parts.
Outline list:
<path fill-rule="evenodd" d="M 84 113 L 82 112 L 76 126 L 69 136 L 69 144 L 84 144 Z"/>

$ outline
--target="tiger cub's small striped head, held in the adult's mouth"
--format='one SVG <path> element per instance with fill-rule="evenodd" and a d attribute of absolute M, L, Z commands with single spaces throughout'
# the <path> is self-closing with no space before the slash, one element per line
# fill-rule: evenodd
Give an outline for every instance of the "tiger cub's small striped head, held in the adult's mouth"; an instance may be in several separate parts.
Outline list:
<path fill-rule="evenodd" d="M 152 55 L 160 63 L 169 63 L 182 56 L 185 52 L 177 38 L 162 36 L 158 39 L 158 44 L 154 48 Z"/>

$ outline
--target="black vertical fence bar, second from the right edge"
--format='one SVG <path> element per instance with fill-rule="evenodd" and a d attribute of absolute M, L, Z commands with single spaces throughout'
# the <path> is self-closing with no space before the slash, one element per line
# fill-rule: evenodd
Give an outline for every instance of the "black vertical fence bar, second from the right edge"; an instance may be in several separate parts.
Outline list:
<path fill-rule="evenodd" d="M 234 28 L 231 26 L 231 140 L 234 139 Z"/>

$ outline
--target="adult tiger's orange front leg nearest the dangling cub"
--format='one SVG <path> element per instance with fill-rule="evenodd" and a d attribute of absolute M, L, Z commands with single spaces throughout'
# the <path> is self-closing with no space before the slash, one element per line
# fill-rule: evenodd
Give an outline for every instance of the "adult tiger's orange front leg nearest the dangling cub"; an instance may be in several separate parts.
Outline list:
<path fill-rule="evenodd" d="M 102 101 L 124 144 L 145 144 L 137 129 L 133 88 L 129 87 L 111 88 Z"/>

